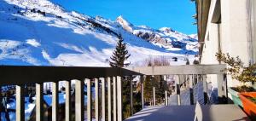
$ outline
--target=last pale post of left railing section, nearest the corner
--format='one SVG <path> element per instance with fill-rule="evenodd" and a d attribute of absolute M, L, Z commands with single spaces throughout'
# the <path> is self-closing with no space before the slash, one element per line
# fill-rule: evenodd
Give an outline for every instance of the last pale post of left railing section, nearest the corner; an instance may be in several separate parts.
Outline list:
<path fill-rule="evenodd" d="M 117 101 L 118 101 L 118 121 L 122 121 L 122 78 L 117 76 Z"/>

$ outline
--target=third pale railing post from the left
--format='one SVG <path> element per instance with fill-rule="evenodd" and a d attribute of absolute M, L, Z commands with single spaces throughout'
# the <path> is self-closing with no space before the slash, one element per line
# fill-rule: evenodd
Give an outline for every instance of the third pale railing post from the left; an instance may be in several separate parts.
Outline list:
<path fill-rule="evenodd" d="M 52 83 L 52 121 L 58 121 L 59 83 Z"/>

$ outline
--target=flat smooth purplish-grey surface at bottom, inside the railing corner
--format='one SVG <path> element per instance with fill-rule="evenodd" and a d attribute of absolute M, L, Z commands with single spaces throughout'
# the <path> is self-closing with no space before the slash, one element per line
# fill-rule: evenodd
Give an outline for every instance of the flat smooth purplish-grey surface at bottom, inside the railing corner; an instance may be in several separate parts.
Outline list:
<path fill-rule="evenodd" d="M 203 105 L 203 120 L 248 121 L 247 115 L 235 105 Z M 195 106 L 147 107 L 125 121 L 193 121 Z"/>

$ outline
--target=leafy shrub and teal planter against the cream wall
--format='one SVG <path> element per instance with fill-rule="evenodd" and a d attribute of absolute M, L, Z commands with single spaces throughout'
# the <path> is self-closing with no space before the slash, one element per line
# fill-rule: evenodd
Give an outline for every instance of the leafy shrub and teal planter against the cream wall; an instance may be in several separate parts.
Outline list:
<path fill-rule="evenodd" d="M 225 72 L 231 75 L 232 79 L 236 79 L 241 85 L 236 87 L 228 88 L 228 92 L 232 96 L 232 101 L 240 107 L 243 107 L 241 99 L 239 98 L 239 93 L 241 92 L 253 92 L 252 86 L 247 86 L 247 82 L 256 82 L 256 77 L 254 75 L 256 70 L 256 64 L 250 66 L 244 66 L 241 59 L 237 56 L 236 58 L 231 57 L 229 53 L 224 54 L 221 51 L 216 53 L 218 61 L 224 62 L 228 65 L 224 69 Z"/>

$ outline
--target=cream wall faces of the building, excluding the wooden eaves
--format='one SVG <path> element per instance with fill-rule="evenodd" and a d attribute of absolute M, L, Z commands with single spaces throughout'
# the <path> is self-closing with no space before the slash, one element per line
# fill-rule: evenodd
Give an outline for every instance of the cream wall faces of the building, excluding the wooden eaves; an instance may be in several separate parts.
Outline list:
<path fill-rule="evenodd" d="M 224 53 L 230 53 L 231 56 L 239 56 L 245 65 L 249 63 L 248 38 L 250 32 L 248 29 L 248 0 L 220 0 L 221 4 L 221 22 L 212 23 L 212 13 L 214 3 L 212 0 L 205 37 L 205 47 L 203 47 L 201 64 L 218 64 L 215 54 L 218 52 L 218 45 Z M 219 43 L 220 42 L 220 43 Z M 215 84 L 217 77 L 207 75 L 207 81 Z M 236 86 L 237 81 L 228 77 L 228 86 Z"/>

